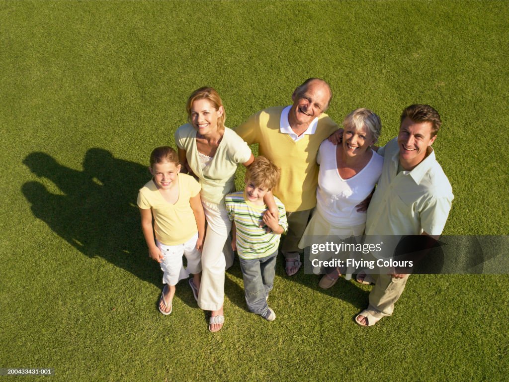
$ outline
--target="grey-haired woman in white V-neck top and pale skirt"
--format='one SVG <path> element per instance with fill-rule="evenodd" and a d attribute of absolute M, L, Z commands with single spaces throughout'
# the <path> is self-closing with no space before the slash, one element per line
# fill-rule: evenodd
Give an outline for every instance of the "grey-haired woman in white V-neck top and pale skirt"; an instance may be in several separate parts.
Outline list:
<path fill-rule="evenodd" d="M 371 147 L 378 141 L 381 128 L 375 113 L 359 108 L 343 121 L 341 144 L 322 142 L 317 156 L 317 206 L 299 242 L 300 248 L 317 243 L 320 237 L 345 239 L 363 234 L 366 214 L 358 211 L 357 205 L 371 194 L 380 178 L 383 157 Z M 321 259 L 311 256 L 312 260 Z M 320 280 L 320 287 L 332 287 L 339 276 L 339 269 L 332 268 Z"/>

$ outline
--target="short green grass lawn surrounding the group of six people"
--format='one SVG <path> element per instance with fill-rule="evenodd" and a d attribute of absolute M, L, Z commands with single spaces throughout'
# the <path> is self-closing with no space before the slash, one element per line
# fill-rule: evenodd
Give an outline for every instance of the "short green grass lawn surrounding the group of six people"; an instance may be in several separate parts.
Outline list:
<path fill-rule="evenodd" d="M 369 287 L 323 291 L 279 262 L 269 323 L 247 312 L 236 263 L 211 334 L 184 282 L 174 313 L 157 311 L 162 274 L 135 203 L 194 89 L 215 87 L 234 127 L 318 76 L 329 115 L 371 108 L 381 144 L 405 106 L 436 107 L 455 194 L 444 234 L 507 235 L 508 46 L 507 2 L 0 2 L 0 368 L 65 381 L 506 380 L 507 274 L 414 275 L 394 315 L 365 329 L 353 316 Z"/>

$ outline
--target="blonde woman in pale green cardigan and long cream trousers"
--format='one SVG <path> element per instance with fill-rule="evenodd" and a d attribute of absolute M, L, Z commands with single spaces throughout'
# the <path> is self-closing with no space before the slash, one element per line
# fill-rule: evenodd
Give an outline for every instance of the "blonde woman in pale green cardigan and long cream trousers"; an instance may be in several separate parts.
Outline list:
<path fill-rule="evenodd" d="M 187 100 L 189 123 L 175 132 L 182 168 L 193 173 L 202 185 L 201 197 L 207 219 L 203 244 L 201 285 L 189 284 L 197 294 L 198 306 L 212 311 L 209 330 L 217 332 L 224 322 L 224 270 L 233 264 L 228 239 L 232 224 L 224 197 L 235 190 L 235 171 L 242 163 L 249 166 L 254 157 L 249 146 L 224 126 L 226 114 L 221 97 L 212 88 L 195 90 Z M 266 203 L 275 209 L 270 194 Z"/>

